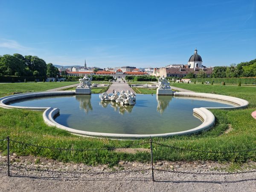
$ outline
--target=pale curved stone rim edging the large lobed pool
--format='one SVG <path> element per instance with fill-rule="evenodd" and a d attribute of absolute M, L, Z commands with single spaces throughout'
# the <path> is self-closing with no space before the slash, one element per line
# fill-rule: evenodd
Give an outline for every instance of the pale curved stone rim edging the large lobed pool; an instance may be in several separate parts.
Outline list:
<path fill-rule="evenodd" d="M 44 122 L 56 128 L 60 128 L 65 131 L 69 131 L 72 134 L 80 135 L 80 136 L 87 136 L 87 137 L 108 137 L 108 138 L 115 138 L 115 139 L 139 139 L 139 138 L 148 138 L 148 137 L 172 137 L 175 135 L 186 135 L 186 134 L 195 134 L 201 132 L 203 130 L 208 130 L 211 128 L 215 123 L 215 117 L 211 111 L 207 108 L 194 108 L 193 113 L 195 116 L 198 116 L 203 123 L 196 128 L 192 128 L 187 131 L 179 131 L 173 133 L 166 133 L 166 134 L 109 134 L 109 133 L 97 133 L 97 132 L 90 132 L 90 131 L 80 131 L 73 128 L 66 127 L 64 125 L 58 124 L 55 122 L 54 117 L 59 114 L 58 108 L 37 108 L 37 107 L 19 107 L 19 106 L 10 106 L 6 105 L 8 102 L 12 102 L 18 99 L 25 99 L 25 98 L 32 98 L 38 96 L 56 96 L 56 95 L 73 95 L 75 94 L 73 91 L 50 91 L 50 92 L 33 92 L 33 93 L 22 93 L 17 95 L 11 95 L 0 98 L 0 107 L 2 108 L 17 108 L 17 109 L 29 109 L 29 110 L 39 110 L 44 111 L 43 118 Z M 222 100 L 227 102 L 232 102 L 238 106 L 233 107 L 225 107 L 225 108 L 218 108 L 218 109 L 236 109 L 236 108 L 245 108 L 249 104 L 244 99 L 239 99 L 236 97 L 231 96 L 222 96 L 222 95 L 215 95 L 210 93 L 192 93 L 192 92 L 176 92 L 174 93 L 175 96 L 186 96 L 186 97 L 199 97 L 204 99 L 216 99 Z"/>

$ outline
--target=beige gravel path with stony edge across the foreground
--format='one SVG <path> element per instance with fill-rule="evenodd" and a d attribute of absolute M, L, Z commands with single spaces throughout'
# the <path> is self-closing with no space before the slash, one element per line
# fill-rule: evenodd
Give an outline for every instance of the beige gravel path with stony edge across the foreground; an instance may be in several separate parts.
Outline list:
<path fill-rule="evenodd" d="M 153 182 L 151 170 L 140 171 L 150 169 L 150 163 L 122 161 L 119 162 L 119 166 L 108 168 L 107 165 L 86 166 L 47 160 L 42 157 L 38 163 L 37 159 L 38 157 L 18 157 L 12 154 L 12 176 L 8 177 L 6 156 L 0 156 L 0 191 L 256 191 L 256 172 L 235 175 L 197 175 L 154 171 L 155 181 Z M 154 166 L 157 169 L 174 171 L 220 173 L 230 165 L 204 161 L 159 161 Z M 255 162 L 250 162 L 241 169 L 255 170 L 253 169 L 255 166 Z M 44 171 L 37 171 L 38 169 Z M 91 173 L 88 174 L 88 172 Z"/>

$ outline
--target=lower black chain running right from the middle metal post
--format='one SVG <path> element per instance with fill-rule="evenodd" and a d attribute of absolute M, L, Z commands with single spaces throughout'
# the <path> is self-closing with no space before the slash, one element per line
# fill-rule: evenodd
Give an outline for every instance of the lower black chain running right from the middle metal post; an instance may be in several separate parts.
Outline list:
<path fill-rule="evenodd" d="M 175 170 L 164 170 L 164 169 L 154 169 L 154 171 L 159 172 L 171 172 L 171 173 L 181 173 L 181 174 L 192 174 L 192 175 L 234 175 L 234 174 L 244 174 L 244 173 L 254 173 L 256 170 L 244 171 L 244 172 L 182 172 Z"/>

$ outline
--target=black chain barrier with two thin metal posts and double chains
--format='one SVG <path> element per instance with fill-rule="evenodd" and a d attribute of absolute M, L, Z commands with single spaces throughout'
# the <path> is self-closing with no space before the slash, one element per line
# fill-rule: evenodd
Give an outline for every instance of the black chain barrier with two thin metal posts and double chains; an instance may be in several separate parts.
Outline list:
<path fill-rule="evenodd" d="M 47 147 L 47 146 L 41 146 L 41 145 L 35 145 L 35 144 L 30 144 L 30 143 L 24 143 L 16 140 L 12 140 L 9 137 L 6 137 L 5 139 L 1 139 L 0 141 L 7 141 L 7 151 L 8 151 L 8 159 L 7 159 L 7 164 L 1 163 L 0 162 L 0 167 L 8 167 L 8 176 L 10 176 L 10 160 L 9 160 L 9 141 L 12 141 L 14 143 L 18 143 L 20 145 L 26 145 L 26 146 L 32 146 L 32 147 L 37 147 L 37 148 L 44 148 L 44 149 L 51 149 L 51 150 L 59 150 L 59 151 L 111 151 L 114 149 L 119 149 L 119 148 L 132 148 L 132 147 L 137 147 L 138 145 L 148 145 L 150 147 L 150 152 L 151 152 L 151 168 L 148 169 L 140 169 L 140 170 L 120 170 L 120 171 L 112 171 L 112 172 L 74 172 L 74 171 L 56 171 L 56 170 L 49 170 L 49 169 L 40 169 L 40 168 L 28 168 L 27 166 L 20 166 L 20 165 L 12 165 L 12 168 L 14 171 L 20 172 L 20 169 L 24 169 L 26 171 L 38 171 L 38 172 L 47 172 L 47 173 L 60 173 L 60 174 L 93 174 L 93 175 L 99 175 L 99 174 L 116 174 L 116 173 L 131 173 L 131 172 L 145 172 L 145 171 L 151 171 L 152 174 L 152 180 L 154 181 L 154 171 L 158 172 L 171 172 L 171 173 L 180 173 L 180 174 L 192 174 L 192 175 L 235 175 L 235 174 L 244 174 L 244 173 L 255 173 L 256 170 L 250 170 L 250 171 L 242 171 L 242 172 L 183 172 L 183 171 L 177 171 L 177 170 L 165 170 L 165 169 L 155 169 L 153 166 L 153 147 L 152 144 L 155 145 L 160 145 L 163 147 L 169 147 L 173 148 L 176 150 L 180 151 L 191 151 L 191 152 L 201 152 L 201 153 L 213 153 L 213 154 L 231 154 L 231 153 L 241 153 L 241 152 L 250 152 L 250 151 L 256 151 L 256 149 L 249 149 L 249 150 L 241 150 L 241 151 L 204 151 L 204 150 L 196 150 L 196 149 L 188 149 L 188 148 L 180 148 L 180 147 L 175 147 L 171 145 L 166 145 L 162 143 L 157 143 L 153 142 L 152 139 L 150 138 L 149 141 L 143 141 L 140 143 L 133 142 L 130 145 L 127 145 L 125 147 L 112 147 L 112 146 L 104 146 L 105 148 L 88 148 L 88 149 L 74 149 L 74 148 L 55 148 L 55 147 Z"/>

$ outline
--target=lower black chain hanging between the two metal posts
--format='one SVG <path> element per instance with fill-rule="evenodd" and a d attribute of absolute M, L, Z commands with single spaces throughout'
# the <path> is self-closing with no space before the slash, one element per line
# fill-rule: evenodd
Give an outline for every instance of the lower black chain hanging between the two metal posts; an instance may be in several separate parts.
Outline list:
<path fill-rule="evenodd" d="M 94 174 L 94 175 L 131 173 L 131 172 L 145 172 L 145 171 L 151 170 L 151 169 L 140 169 L 140 170 L 121 170 L 121 171 L 113 171 L 113 172 L 73 172 L 73 171 L 55 171 L 55 170 L 39 169 L 39 168 L 35 169 L 35 168 L 28 168 L 28 167 L 25 167 L 25 166 L 16 166 L 16 165 L 13 165 L 12 167 L 16 168 L 16 169 L 25 169 L 26 171 L 51 172 L 51 173 L 61 173 L 61 174 Z"/>

